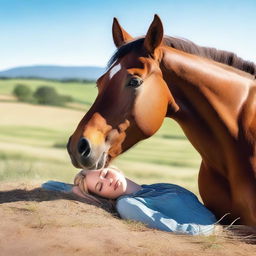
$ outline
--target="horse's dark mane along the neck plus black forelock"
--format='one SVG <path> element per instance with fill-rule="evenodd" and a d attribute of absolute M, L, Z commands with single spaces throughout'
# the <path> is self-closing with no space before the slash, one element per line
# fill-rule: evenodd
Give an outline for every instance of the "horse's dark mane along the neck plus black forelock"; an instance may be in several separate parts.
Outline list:
<path fill-rule="evenodd" d="M 137 52 L 141 49 L 144 42 L 144 38 L 139 38 L 132 42 L 122 45 L 114 53 L 108 67 L 110 67 L 117 59 L 122 58 L 129 52 Z M 251 75 L 256 76 L 256 65 L 251 61 L 243 60 L 233 52 L 217 50 L 216 48 L 202 47 L 195 43 L 186 40 L 170 36 L 165 36 L 163 40 L 164 45 L 173 47 L 177 50 L 181 50 L 194 55 L 202 56 L 214 61 L 229 65 L 239 70 L 245 71 Z"/>

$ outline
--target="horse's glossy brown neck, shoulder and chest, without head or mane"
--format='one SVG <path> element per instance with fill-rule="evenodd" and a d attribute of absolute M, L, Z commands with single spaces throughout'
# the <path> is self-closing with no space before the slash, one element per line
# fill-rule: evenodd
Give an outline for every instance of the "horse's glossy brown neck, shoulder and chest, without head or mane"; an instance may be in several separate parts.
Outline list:
<path fill-rule="evenodd" d="M 164 55 L 165 81 L 179 81 L 170 86 L 179 111 L 169 116 L 202 156 L 199 189 L 205 205 L 218 217 L 232 212 L 231 219 L 256 225 L 255 80 L 200 57 L 169 49 Z"/>

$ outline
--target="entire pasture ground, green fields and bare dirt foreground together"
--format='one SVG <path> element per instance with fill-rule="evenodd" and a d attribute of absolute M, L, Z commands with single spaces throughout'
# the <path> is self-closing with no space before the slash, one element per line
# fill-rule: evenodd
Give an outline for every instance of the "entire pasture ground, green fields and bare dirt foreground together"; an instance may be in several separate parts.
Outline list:
<path fill-rule="evenodd" d="M 33 90 L 53 86 L 73 96 L 76 109 L 19 103 L 10 97 L 17 83 Z M 73 182 L 79 170 L 71 164 L 66 142 L 96 93 L 94 84 L 0 80 L 2 255 L 255 255 L 254 245 L 225 233 L 177 236 L 120 220 L 77 198 L 38 190 L 50 179 Z M 200 157 L 171 120 L 113 164 L 139 183 L 176 183 L 198 195 Z"/>

